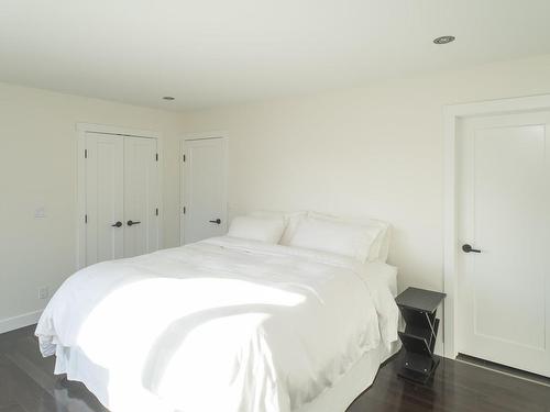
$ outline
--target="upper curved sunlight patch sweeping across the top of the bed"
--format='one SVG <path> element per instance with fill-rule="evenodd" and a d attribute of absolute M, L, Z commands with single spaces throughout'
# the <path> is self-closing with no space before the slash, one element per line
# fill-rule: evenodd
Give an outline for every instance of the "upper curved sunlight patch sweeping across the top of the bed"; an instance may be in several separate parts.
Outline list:
<path fill-rule="evenodd" d="M 193 330 L 228 316 L 231 308 L 268 312 L 295 307 L 305 299 L 237 279 L 144 279 L 120 287 L 97 303 L 82 323 L 77 344 L 91 361 L 108 365 L 111 374 L 120 369 L 125 376 L 141 378 L 155 342 L 175 323 Z"/>

